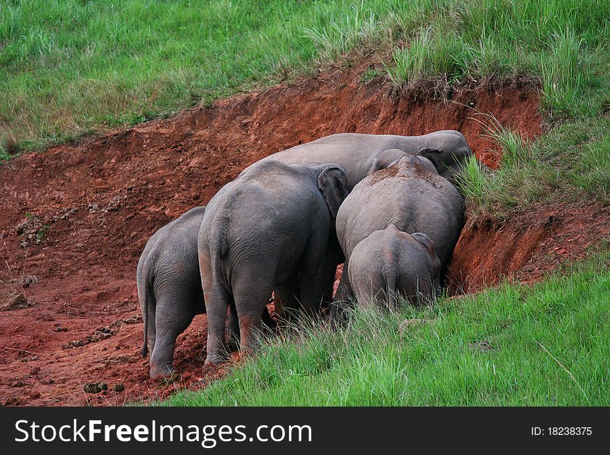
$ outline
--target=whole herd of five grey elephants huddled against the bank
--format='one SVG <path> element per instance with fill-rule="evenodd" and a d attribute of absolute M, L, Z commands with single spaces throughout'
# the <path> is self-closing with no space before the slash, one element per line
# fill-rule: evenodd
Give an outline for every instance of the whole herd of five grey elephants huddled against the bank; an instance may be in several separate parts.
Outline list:
<path fill-rule="evenodd" d="M 177 336 L 207 313 L 206 364 L 256 349 L 274 321 L 353 302 L 432 301 L 462 229 L 456 179 L 472 154 L 457 131 L 333 134 L 249 166 L 148 240 L 137 267 L 150 377 L 175 373 Z M 337 265 L 345 263 L 336 295 Z M 228 314 L 228 321 L 227 321 Z"/>

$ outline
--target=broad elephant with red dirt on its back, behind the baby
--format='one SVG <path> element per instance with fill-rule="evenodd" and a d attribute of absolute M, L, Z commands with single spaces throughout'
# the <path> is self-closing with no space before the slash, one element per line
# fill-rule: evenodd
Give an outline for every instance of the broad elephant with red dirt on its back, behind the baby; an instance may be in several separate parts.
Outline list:
<path fill-rule="evenodd" d="M 458 190 L 430 171 L 421 157 L 402 157 L 363 179 L 337 215 L 337 236 L 346 260 L 336 303 L 340 305 L 354 296 L 349 285 L 351 252 L 360 241 L 390 223 L 403 232 L 421 232 L 430 237 L 441 262 L 442 281 L 462 230 L 462 203 Z"/>

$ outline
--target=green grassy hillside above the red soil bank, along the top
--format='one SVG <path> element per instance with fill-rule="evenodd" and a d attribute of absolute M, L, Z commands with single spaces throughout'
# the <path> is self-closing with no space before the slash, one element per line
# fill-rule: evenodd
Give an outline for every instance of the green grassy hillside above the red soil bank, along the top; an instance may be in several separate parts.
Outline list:
<path fill-rule="evenodd" d="M 528 73 L 549 116 L 591 117 L 610 105 L 609 17 L 596 0 L 6 1 L 0 159 L 275 84 L 354 49 L 393 50 L 397 85 Z"/>

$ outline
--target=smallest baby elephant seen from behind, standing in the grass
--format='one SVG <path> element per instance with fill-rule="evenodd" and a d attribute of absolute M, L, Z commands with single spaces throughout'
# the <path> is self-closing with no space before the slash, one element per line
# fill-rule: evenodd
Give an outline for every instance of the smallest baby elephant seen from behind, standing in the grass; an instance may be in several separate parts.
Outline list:
<path fill-rule="evenodd" d="M 360 307 L 376 299 L 392 308 L 397 294 L 414 305 L 432 301 L 440 292 L 440 266 L 428 235 L 390 224 L 356 245 L 348 274 Z"/>

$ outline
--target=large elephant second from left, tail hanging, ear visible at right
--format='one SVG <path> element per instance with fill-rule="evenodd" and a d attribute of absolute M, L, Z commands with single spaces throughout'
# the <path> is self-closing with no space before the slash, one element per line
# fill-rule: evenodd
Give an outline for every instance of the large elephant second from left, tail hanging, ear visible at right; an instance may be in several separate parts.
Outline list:
<path fill-rule="evenodd" d="M 315 314 L 334 220 L 347 196 L 345 170 L 334 163 L 256 164 L 211 199 L 198 251 L 207 305 L 207 364 L 227 359 L 227 307 L 236 310 L 241 350 L 256 348 L 261 311 L 271 293 Z"/>

